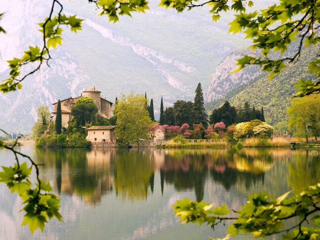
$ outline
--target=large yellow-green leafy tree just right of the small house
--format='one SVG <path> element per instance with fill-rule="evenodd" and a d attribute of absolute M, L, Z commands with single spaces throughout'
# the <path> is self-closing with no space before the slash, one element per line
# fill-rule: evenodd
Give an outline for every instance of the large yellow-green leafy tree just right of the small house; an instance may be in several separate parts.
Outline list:
<path fill-rule="evenodd" d="M 115 130 L 119 143 L 136 143 L 140 139 L 149 139 L 148 127 L 152 125 L 148 111 L 145 109 L 146 99 L 143 95 L 121 96 L 115 107 L 117 128 Z"/>

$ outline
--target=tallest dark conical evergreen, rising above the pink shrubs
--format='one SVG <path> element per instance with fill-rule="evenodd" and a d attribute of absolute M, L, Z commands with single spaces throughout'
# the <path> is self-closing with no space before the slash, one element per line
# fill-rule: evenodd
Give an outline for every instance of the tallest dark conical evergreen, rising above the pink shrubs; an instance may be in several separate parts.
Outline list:
<path fill-rule="evenodd" d="M 194 123 L 202 123 L 205 128 L 208 127 L 208 115 L 205 113 L 203 93 L 201 83 L 198 83 L 195 89 L 194 103 L 191 115 L 193 115 Z"/>

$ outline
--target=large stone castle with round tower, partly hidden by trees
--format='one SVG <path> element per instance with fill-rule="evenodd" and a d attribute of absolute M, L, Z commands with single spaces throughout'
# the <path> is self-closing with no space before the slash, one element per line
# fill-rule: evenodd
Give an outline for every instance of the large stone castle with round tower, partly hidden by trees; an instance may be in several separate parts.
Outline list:
<path fill-rule="evenodd" d="M 81 96 L 78 96 L 75 98 L 69 97 L 67 99 L 60 101 L 63 127 L 68 126 L 68 122 L 72 119 L 71 108 L 75 104 L 75 101 L 81 97 L 92 98 L 98 108 L 98 114 L 100 114 L 102 117 L 110 119 L 113 116 L 113 110 L 112 110 L 113 103 L 102 98 L 101 91 L 99 91 L 94 87 L 88 90 L 84 90 Z M 52 105 L 54 106 L 54 111 L 53 111 L 54 122 L 56 122 L 58 102 L 53 103 Z"/>

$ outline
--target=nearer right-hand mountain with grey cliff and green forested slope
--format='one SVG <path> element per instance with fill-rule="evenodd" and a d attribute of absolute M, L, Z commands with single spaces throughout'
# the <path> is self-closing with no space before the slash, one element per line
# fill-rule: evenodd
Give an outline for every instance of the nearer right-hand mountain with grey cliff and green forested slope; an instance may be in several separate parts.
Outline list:
<path fill-rule="evenodd" d="M 292 54 L 294 50 L 296 46 L 292 46 L 288 54 Z M 288 67 L 271 80 L 266 73 L 258 71 L 255 66 L 246 67 L 235 76 L 230 75 L 229 72 L 235 68 L 235 64 L 230 63 L 231 60 L 234 62 L 247 52 L 237 51 L 228 55 L 216 67 L 216 72 L 211 78 L 205 95 L 206 109 L 212 111 L 225 101 L 236 107 L 243 106 L 248 101 L 255 105 L 256 109 L 263 107 L 268 123 L 287 121 L 286 110 L 290 106 L 292 94 L 297 92 L 294 84 L 299 79 L 316 79 L 314 74 L 309 73 L 308 63 L 318 58 L 319 51 L 319 45 L 303 48 L 299 60 L 287 64 Z M 224 69 L 224 74 L 220 69 Z"/>

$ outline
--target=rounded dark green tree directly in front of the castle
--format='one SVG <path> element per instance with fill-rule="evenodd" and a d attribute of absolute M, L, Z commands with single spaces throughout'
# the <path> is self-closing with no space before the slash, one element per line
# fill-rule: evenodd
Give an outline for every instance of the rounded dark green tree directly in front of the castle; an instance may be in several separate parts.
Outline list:
<path fill-rule="evenodd" d="M 98 108 L 92 98 L 81 97 L 77 99 L 71 108 L 71 115 L 79 126 L 87 128 L 88 123 L 95 120 Z"/>

